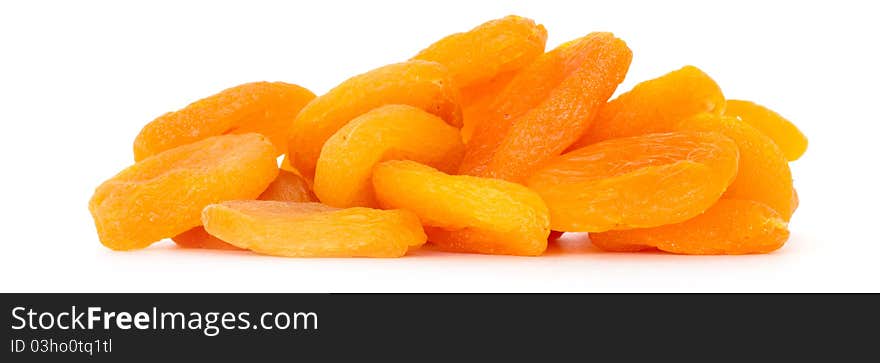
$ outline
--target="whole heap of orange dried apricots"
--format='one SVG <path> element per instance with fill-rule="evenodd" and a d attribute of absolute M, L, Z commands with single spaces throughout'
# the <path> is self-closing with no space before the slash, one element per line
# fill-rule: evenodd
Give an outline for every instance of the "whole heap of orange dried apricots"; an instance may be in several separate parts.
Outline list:
<path fill-rule="evenodd" d="M 290 257 L 537 256 L 563 232 L 620 252 L 785 243 L 794 124 L 693 66 L 609 100 L 623 40 L 546 41 L 507 16 L 317 97 L 256 82 L 159 116 L 89 201 L 98 237 Z"/>

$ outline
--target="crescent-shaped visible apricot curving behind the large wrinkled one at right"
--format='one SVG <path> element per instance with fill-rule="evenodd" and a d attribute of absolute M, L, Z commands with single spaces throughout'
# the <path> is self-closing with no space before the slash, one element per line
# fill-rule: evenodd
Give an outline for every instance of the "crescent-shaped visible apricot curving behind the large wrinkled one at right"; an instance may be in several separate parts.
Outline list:
<path fill-rule="evenodd" d="M 736 142 L 739 168 L 725 198 L 754 200 L 779 212 L 784 220 L 794 213 L 791 169 L 788 160 L 767 135 L 738 119 L 715 114 L 699 114 L 679 124 L 683 130 L 715 131 Z"/>

